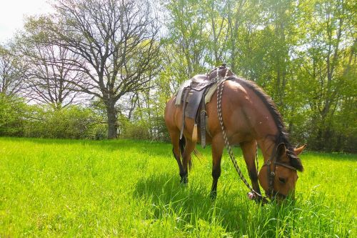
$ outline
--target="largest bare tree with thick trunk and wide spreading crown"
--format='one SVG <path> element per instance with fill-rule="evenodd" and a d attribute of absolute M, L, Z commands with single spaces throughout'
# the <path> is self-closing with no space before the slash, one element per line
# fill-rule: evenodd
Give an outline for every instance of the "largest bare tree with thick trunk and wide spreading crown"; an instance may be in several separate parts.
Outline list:
<path fill-rule="evenodd" d="M 52 41 L 80 56 L 78 66 L 90 82 L 75 83 L 106 105 L 108 138 L 117 137 L 116 103 L 124 94 L 146 89 L 159 68 L 159 26 L 149 2 L 59 0 L 57 14 L 43 29 Z M 58 26 L 64 25 L 64 31 Z"/>

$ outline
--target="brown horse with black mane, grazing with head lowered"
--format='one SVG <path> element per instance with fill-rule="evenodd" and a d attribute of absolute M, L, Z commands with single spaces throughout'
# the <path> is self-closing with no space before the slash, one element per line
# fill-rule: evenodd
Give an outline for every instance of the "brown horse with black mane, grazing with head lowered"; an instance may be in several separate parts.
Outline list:
<path fill-rule="evenodd" d="M 208 74 L 210 79 L 226 76 L 221 96 L 221 115 L 224 129 L 230 144 L 239 144 L 248 167 L 253 190 L 261 194 L 259 184 L 270 198 L 283 199 L 293 194 L 297 171 L 303 171 L 301 160 L 297 157 L 304 147 L 294 149 L 288 141 L 288 134 L 281 115 L 271 98 L 252 81 L 238 78 L 228 68 L 221 66 Z M 221 157 L 225 146 L 223 133 L 218 121 L 217 94 L 206 104 L 208 114 L 208 133 L 206 142 L 212 147 L 211 196 L 216 197 L 218 178 L 221 175 Z M 183 138 L 180 140 L 183 108 L 175 105 L 175 96 L 166 103 L 165 122 L 169 130 L 173 153 L 180 170 L 181 182 L 188 182 L 188 164 L 191 152 L 196 147 L 192 140 L 194 121 L 185 118 Z M 198 141 L 200 141 L 198 127 Z M 264 158 L 259 173 L 256 169 L 256 143 Z M 181 161 L 182 157 L 182 161 Z"/>

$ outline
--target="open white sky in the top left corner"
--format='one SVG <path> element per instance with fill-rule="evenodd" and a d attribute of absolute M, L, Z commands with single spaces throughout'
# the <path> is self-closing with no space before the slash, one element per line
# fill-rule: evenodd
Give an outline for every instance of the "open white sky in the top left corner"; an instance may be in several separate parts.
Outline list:
<path fill-rule="evenodd" d="M 49 0 L 0 0 L 0 44 L 9 41 L 22 29 L 25 16 L 41 15 L 51 11 Z"/>

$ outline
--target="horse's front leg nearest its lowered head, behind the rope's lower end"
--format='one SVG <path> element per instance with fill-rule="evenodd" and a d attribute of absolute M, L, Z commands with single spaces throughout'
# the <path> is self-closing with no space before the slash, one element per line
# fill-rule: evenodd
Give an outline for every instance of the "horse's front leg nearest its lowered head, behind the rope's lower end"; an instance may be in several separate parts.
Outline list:
<path fill-rule="evenodd" d="M 246 161 L 246 166 L 248 168 L 249 178 L 251 179 L 251 184 L 255 192 L 261 193 L 258 183 L 258 172 L 256 169 L 256 141 L 243 142 L 241 143 L 241 149 L 243 152 L 244 160 Z"/>

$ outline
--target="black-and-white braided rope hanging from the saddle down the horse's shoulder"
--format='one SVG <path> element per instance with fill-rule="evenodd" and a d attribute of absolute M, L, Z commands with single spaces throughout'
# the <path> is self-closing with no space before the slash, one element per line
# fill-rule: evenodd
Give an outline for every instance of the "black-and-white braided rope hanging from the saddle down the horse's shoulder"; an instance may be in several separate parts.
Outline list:
<path fill-rule="evenodd" d="M 258 194 L 258 192 L 254 191 L 253 188 L 251 187 L 251 184 L 249 184 L 246 181 L 246 178 L 243 176 L 241 169 L 238 166 L 238 163 L 236 161 L 236 158 L 234 157 L 233 154 L 233 150 L 231 147 L 231 144 L 229 144 L 228 142 L 228 138 L 226 135 L 226 131 L 224 130 L 223 127 L 223 118 L 222 118 L 222 92 L 223 92 L 223 82 L 226 81 L 227 79 L 227 74 L 228 74 L 229 68 L 226 68 L 226 75 L 221 79 L 221 81 L 219 80 L 219 71 L 217 68 L 217 110 L 218 110 L 218 120 L 219 120 L 219 124 L 221 125 L 221 129 L 222 129 L 222 134 L 223 134 L 223 139 L 224 139 L 224 144 L 226 145 L 226 149 L 228 151 L 229 157 L 231 158 L 231 162 L 233 163 L 234 168 L 236 169 L 236 172 L 238 173 L 239 177 L 242 179 L 243 183 L 246 184 L 246 187 L 248 187 L 249 190 L 251 190 L 251 192 L 253 192 L 253 194 L 256 194 L 258 197 L 261 197 L 264 199 L 264 197 L 261 196 L 261 194 Z M 256 152 L 257 153 L 257 152 Z M 257 164 L 258 164 L 258 154 L 256 154 L 256 160 L 257 160 Z"/>

